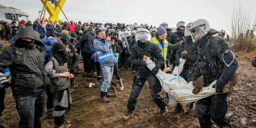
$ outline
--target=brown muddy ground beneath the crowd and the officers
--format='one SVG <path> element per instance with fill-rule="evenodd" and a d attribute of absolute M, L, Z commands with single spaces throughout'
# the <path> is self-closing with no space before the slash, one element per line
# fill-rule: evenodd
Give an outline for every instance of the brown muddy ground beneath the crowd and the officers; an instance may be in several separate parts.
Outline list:
<path fill-rule="evenodd" d="M 256 51 L 247 54 L 236 53 L 239 61 L 238 84 L 234 87 L 234 93 L 228 97 L 229 111 L 233 112 L 234 116 L 230 126 L 225 128 L 242 128 L 242 118 L 247 122 L 256 120 L 256 68 L 251 66 L 251 58 L 254 55 Z M 82 68 L 81 60 L 80 67 Z M 169 112 L 165 117 L 158 118 L 156 114 L 159 109 L 152 100 L 147 83 L 138 98 L 134 116 L 128 121 L 123 121 L 121 117 L 127 110 L 126 104 L 134 74 L 121 70 L 121 76 L 124 79 L 125 90 L 118 92 L 118 97 L 110 98 L 110 103 L 100 102 L 100 86 L 89 88 L 89 83 L 95 83 L 96 79 L 82 77 L 82 74 L 76 76 L 78 87 L 72 88 L 73 106 L 67 117 L 73 124 L 72 128 L 200 128 L 196 112 Z M 115 76 L 113 78 L 116 79 Z M 79 98 L 85 94 L 88 95 Z M 7 89 L 5 104 L 2 118 L 10 128 L 17 128 L 19 115 L 10 89 Z M 52 128 L 53 121 L 42 119 L 42 127 Z M 244 128 L 256 128 L 249 125 L 247 123 Z"/>

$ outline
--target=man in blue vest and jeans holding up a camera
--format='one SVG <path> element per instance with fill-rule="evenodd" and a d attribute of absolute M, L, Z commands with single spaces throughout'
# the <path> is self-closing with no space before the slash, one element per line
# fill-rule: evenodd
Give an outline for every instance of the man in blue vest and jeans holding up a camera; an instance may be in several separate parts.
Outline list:
<path fill-rule="evenodd" d="M 103 73 L 104 81 L 101 86 L 100 101 L 104 103 L 110 102 L 106 96 L 115 96 L 115 94 L 110 94 L 108 92 L 109 84 L 114 71 L 114 65 L 117 62 L 112 49 L 115 50 L 114 39 L 111 39 L 110 36 L 106 38 L 104 30 L 97 30 L 96 41 L 93 43 L 92 50 L 97 53 Z"/>

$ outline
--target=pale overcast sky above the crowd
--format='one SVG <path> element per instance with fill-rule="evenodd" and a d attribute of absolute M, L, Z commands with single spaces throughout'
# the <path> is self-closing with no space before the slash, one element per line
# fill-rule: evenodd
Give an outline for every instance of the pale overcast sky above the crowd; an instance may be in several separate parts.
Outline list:
<path fill-rule="evenodd" d="M 43 8 L 40 0 L 1 0 L 1 4 L 24 10 L 32 22 Z M 169 27 L 175 27 L 179 21 L 204 18 L 212 28 L 229 32 L 232 10 L 239 4 L 256 17 L 255 0 L 66 0 L 63 11 L 76 22 L 137 22 L 153 26 L 168 22 Z M 59 18 L 65 20 L 63 14 Z"/>

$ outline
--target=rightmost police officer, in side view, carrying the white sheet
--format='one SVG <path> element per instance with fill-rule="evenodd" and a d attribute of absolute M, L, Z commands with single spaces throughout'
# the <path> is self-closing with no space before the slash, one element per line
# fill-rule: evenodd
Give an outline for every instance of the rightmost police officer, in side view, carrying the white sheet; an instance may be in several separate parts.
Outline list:
<path fill-rule="evenodd" d="M 196 20 L 192 24 L 190 32 L 192 40 L 198 42 L 198 65 L 193 82 L 202 76 L 203 85 L 206 87 L 217 80 L 213 87 L 219 93 L 198 101 L 197 113 L 200 126 L 201 128 L 211 128 L 211 120 L 220 126 L 228 125 L 232 113 L 227 113 L 228 94 L 223 93 L 224 85 L 234 77 L 238 62 L 228 43 L 220 36 L 213 36 L 218 31 L 210 28 L 207 20 Z"/>

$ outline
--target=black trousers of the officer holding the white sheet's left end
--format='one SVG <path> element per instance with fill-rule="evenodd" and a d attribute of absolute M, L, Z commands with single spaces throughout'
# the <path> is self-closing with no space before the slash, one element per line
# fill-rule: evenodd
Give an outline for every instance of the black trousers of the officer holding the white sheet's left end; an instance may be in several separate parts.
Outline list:
<path fill-rule="evenodd" d="M 162 86 L 160 85 L 158 78 L 156 78 L 156 76 L 152 74 L 150 70 L 139 70 L 138 74 L 134 76 L 132 92 L 127 104 L 129 112 L 133 112 L 135 110 L 138 96 L 140 95 L 140 91 L 146 80 L 148 80 L 151 96 L 154 102 L 157 104 L 158 108 L 161 110 L 165 108 L 166 103 L 163 96 L 160 94 Z"/>

